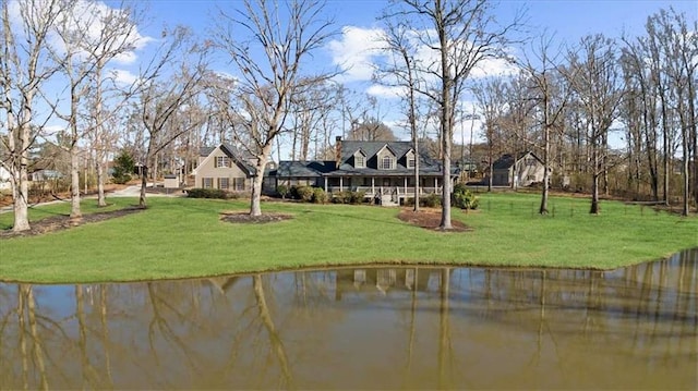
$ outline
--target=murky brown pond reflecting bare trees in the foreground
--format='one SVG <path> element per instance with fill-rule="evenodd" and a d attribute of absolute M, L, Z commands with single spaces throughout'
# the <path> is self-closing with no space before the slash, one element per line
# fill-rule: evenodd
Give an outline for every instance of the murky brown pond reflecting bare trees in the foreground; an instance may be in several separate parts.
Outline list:
<path fill-rule="evenodd" d="M 0 284 L 0 389 L 695 389 L 698 249 L 615 271 Z"/>

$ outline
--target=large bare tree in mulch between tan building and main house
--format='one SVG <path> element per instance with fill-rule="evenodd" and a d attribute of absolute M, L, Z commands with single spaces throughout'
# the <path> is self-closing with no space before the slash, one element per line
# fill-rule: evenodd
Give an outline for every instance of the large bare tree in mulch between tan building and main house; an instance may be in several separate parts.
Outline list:
<path fill-rule="evenodd" d="M 246 149 L 256 158 L 251 216 L 262 215 L 264 169 L 275 139 L 285 130 L 291 98 L 334 75 L 303 74 L 303 61 L 334 34 L 323 11 L 324 3 L 315 0 L 244 0 L 243 9 L 233 15 L 220 11 L 215 39 L 242 73 L 238 98 L 250 120 Z M 246 40 L 239 38 L 238 28 L 249 34 Z"/>

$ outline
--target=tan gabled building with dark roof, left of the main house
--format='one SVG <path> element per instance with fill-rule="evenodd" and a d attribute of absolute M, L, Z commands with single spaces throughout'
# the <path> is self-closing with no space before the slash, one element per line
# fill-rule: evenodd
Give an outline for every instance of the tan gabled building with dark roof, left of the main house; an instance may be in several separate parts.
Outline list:
<path fill-rule="evenodd" d="M 192 172 L 194 187 L 250 191 L 256 172 L 254 161 L 254 157 L 228 144 L 202 148 L 198 166 Z"/>

